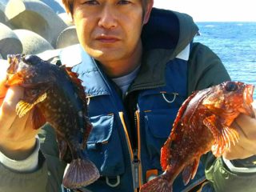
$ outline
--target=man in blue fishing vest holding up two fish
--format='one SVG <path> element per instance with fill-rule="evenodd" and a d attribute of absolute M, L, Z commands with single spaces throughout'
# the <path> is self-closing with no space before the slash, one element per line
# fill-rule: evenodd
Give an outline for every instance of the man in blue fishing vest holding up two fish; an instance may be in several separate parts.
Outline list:
<path fill-rule="evenodd" d="M 211 50 L 192 42 L 198 28 L 186 14 L 152 10 L 153 0 L 63 2 L 81 46 L 62 50 L 59 58 L 86 87 L 94 125 L 86 152 L 101 174 L 80 190 L 138 191 L 161 174 L 160 148 L 182 102 L 193 90 L 230 78 Z M 54 130 L 44 126 L 36 139 L 30 114 L 15 114 L 22 88 L 2 92 L 0 191 L 60 191 L 66 164 L 58 159 Z M 256 189 L 256 121 L 241 115 L 234 126 L 238 145 L 223 158 L 208 154 L 194 180 L 184 186 L 178 177 L 174 191 Z"/>

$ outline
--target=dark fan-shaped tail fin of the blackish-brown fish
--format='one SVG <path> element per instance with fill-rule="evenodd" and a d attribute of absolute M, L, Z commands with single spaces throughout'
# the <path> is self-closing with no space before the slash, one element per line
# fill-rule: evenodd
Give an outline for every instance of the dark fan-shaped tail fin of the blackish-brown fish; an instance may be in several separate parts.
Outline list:
<path fill-rule="evenodd" d="M 99 178 L 97 167 L 88 158 L 77 158 L 70 162 L 70 166 L 63 178 L 63 186 L 76 189 L 88 186 Z"/>

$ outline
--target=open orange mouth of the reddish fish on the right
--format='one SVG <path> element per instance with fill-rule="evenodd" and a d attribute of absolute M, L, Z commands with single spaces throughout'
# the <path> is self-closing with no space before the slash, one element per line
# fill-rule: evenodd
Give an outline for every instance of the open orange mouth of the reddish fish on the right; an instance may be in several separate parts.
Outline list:
<path fill-rule="evenodd" d="M 254 109 L 252 106 L 252 102 L 254 102 L 254 86 L 253 85 L 246 85 L 246 88 L 243 92 L 243 107 L 244 107 L 244 114 L 249 115 L 251 118 L 255 118 Z"/>

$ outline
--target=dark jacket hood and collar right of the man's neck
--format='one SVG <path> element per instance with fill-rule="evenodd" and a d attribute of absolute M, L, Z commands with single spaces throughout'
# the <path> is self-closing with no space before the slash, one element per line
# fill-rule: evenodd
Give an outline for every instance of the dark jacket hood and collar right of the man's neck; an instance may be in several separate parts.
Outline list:
<path fill-rule="evenodd" d="M 142 68 L 129 91 L 165 86 L 166 63 L 174 58 L 187 61 L 197 32 L 189 15 L 153 8 L 142 30 Z"/>

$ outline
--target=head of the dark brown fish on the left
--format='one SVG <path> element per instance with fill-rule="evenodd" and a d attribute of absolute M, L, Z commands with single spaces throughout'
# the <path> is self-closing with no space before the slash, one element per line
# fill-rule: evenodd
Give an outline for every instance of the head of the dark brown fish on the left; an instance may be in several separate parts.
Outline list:
<path fill-rule="evenodd" d="M 6 86 L 33 84 L 42 76 L 42 60 L 36 55 L 9 54 L 7 61 Z"/>

